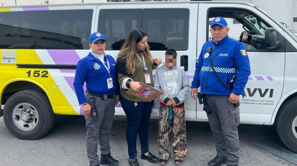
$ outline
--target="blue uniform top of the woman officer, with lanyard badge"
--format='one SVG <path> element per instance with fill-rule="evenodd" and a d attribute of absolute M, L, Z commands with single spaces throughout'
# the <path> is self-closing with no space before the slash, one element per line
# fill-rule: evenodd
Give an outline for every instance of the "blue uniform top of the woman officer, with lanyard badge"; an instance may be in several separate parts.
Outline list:
<path fill-rule="evenodd" d="M 80 105 L 87 102 L 83 91 L 83 84 L 85 82 L 86 88 L 90 92 L 98 94 L 115 92 L 116 95 L 120 94 L 120 85 L 118 75 L 116 74 L 116 61 L 110 55 L 106 55 L 106 57 L 110 65 L 110 78 L 113 81 L 113 88 L 110 89 L 107 87 L 108 71 L 99 59 L 89 53 L 89 55 L 78 61 L 73 86 Z M 104 58 L 104 62 L 108 66 L 106 57 Z"/>

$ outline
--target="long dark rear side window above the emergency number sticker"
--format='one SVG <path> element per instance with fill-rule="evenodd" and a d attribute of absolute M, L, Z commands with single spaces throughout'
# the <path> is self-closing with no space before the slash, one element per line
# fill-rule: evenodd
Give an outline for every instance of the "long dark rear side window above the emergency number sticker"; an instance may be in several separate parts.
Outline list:
<path fill-rule="evenodd" d="M 91 9 L 1 12 L 0 48 L 89 49 L 92 15 Z"/>

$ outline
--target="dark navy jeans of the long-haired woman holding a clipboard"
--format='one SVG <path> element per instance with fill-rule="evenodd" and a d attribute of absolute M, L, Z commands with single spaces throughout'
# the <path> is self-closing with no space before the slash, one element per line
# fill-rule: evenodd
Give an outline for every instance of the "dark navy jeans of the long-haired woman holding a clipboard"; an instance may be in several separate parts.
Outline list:
<path fill-rule="evenodd" d="M 128 154 L 130 159 L 134 159 L 137 157 L 137 134 L 141 144 L 141 154 L 149 152 L 149 119 L 154 101 L 138 102 L 136 107 L 134 101 L 127 100 L 122 96 L 120 96 L 120 101 L 128 122 L 126 131 Z"/>

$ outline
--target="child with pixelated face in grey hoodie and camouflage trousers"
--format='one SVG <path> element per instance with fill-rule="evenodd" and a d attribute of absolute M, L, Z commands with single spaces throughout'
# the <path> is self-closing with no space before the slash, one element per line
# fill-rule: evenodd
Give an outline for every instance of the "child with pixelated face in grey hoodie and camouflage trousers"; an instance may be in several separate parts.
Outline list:
<path fill-rule="evenodd" d="M 184 101 L 190 92 L 190 84 L 184 69 L 176 67 L 176 56 L 173 49 L 165 52 L 165 65 L 157 69 L 154 80 L 154 88 L 164 92 L 160 97 L 159 110 L 160 165 L 167 165 L 172 152 L 169 137 L 171 131 L 175 164 L 183 164 L 187 154 Z"/>

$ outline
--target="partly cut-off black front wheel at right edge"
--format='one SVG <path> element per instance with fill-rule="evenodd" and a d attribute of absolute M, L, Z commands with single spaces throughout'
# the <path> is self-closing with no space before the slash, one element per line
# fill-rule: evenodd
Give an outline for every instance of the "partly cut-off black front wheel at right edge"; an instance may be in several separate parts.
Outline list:
<path fill-rule="evenodd" d="M 297 97 L 287 100 L 279 109 L 276 130 L 282 142 L 297 152 Z"/>

